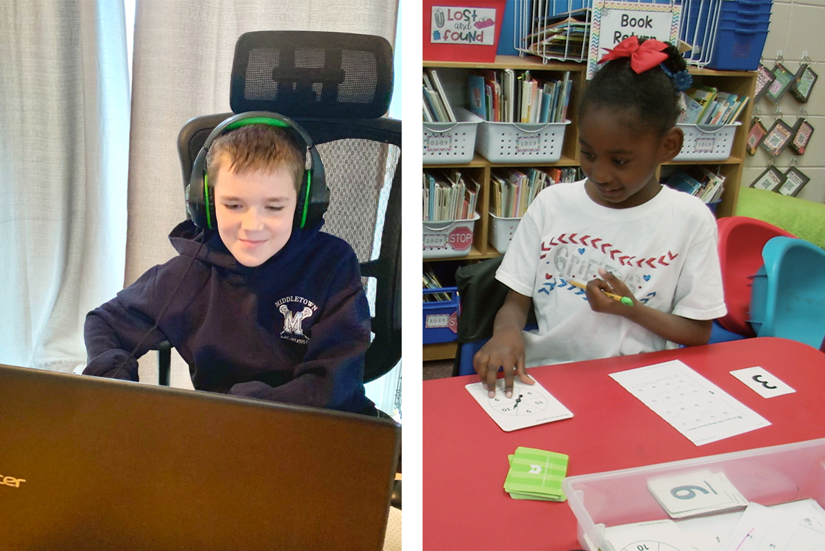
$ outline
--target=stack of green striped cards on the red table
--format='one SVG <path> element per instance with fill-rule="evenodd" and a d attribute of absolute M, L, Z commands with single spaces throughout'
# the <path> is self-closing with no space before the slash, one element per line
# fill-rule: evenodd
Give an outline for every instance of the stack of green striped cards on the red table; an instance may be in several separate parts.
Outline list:
<path fill-rule="evenodd" d="M 567 476 L 568 456 L 552 451 L 519 446 L 507 455 L 510 471 L 504 480 L 504 490 L 513 499 L 538 499 L 563 502 L 562 480 Z"/>

